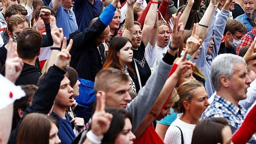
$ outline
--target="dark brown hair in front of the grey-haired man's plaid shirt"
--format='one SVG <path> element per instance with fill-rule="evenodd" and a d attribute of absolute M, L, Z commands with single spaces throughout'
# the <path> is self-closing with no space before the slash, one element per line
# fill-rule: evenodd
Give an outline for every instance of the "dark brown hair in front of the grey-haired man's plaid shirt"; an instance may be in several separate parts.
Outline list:
<path fill-rule="evenodd" d="M 194 129 L 191 144 L 223 143 L 222 129 L 229 126 L 225 118 L 201 120 Z"/>

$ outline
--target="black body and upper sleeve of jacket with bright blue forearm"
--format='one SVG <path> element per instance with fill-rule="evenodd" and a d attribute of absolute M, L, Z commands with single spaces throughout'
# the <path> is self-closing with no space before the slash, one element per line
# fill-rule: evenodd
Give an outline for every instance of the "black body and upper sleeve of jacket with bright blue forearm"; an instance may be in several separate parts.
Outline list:
<path fill-rule="evenodd" d="M 73 39 L 70 66 L 77 70 L 79 78 L 94 81 L 97 72 L 101 69 L 102 58 L 94 40 L 106 27 L 100 19 L 97 19 L 83 32 L 75 31 L 70 34 L 69 38 Z"/>

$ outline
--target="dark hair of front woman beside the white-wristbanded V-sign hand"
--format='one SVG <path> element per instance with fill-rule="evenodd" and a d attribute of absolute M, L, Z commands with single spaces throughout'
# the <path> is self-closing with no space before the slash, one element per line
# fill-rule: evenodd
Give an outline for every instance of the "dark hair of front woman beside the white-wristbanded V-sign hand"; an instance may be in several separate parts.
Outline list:
<path fill-rule="evenodd" d="M 125 126 L 125 119 L 129 118 L 132 124 L 132 115 L 126 109 L 106 108 L 107 113 L 113 115 L 109 130 L 104 134 L 102 144 L 115 143 L 116 137 Z"/>

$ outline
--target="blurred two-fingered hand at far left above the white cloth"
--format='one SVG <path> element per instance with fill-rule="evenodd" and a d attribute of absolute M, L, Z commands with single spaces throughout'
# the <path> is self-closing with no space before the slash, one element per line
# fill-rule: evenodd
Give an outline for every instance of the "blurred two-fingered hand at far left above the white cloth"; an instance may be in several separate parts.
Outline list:
<path fill-rule="evenodd" d="M 22 71 L 23 64 L 22 59 L 15 56 L 15 43 L 10 38 L 5 61 L 5 77 L 15 83 Z"/>

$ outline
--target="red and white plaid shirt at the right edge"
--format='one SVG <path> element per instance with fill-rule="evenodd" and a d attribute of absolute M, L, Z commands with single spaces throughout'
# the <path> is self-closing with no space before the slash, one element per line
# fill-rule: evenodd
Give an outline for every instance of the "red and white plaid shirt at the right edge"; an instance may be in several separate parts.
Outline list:
<path fill-rule="evenodd" d="M 254 29 L 254 27 L 248 33 L 252 33 L 253 36 L 256 37 L 256 30 Z M 237 55 L 239 54 L 240 49 L 243 49 L 246 46 L 250 46 L 252 43 L 253 43 L 253 38 L 250 35 L 248 34 L 243 35 L 243 37 L 241 38 L 241 43 L 238 45 L 236 49 Z"/>

